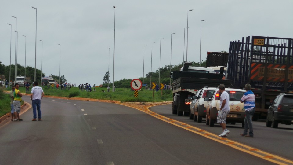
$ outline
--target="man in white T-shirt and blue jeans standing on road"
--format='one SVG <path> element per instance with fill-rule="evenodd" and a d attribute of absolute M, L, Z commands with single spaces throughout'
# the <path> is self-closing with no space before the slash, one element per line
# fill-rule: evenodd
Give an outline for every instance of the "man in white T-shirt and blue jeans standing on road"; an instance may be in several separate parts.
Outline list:
<path fill-rule="evenodd" d="M 31 100 L 33 107 L 34 118 L 31 121 L 37 121 L 37 112 L 38 110 L 38 119 L 41 121 L 41 99 L 44 97 L 44 91 L 42 87 L 38 86 L 38 82 L 34 82 L 34 87 L 31 89 Z"/>

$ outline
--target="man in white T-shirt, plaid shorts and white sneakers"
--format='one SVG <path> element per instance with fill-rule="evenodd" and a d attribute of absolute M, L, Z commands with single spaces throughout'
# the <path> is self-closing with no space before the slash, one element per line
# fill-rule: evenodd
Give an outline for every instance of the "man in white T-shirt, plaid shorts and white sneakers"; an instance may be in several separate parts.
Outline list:
<path fill-rule="evenodd" d="M 229 106 L 229 94 L 225 90 L 225 85 L 220 84 L 219 85 L 219 90 L 221 93 L 220 97 L 220 109 L 218 112 L 218 117 L 217 117 L 217 123 L 221 125 L 223 128 L 223 132 L 219 135 L 219 137 L 226 137 L 227 134 L 230 133 L 229 130 L 226 129 L 226 117 L 230 111 L 230 106 Z"/>

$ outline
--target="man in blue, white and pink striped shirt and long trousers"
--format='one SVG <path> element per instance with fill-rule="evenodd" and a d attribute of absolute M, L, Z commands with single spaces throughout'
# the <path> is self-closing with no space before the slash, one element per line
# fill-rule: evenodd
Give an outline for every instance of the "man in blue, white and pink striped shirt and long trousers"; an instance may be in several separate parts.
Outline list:
<path fill-rule="evenodd" d="M 255 112 L 255 95 L 251 91 L 250 84 L 245 84 L 245 90 L 246 92 L 242 96 L 240 102 L 244 103 L 244 109 L 245 109 L 245 119 L 244 119 L 244 131 L 243 134 L 240 134 L 241 136 L 245 137 L 251 137 L 253 138 L 253 129 L 252 129 L 252 116 Z M 249 129 L 249 134 L 247 134 Z"/>

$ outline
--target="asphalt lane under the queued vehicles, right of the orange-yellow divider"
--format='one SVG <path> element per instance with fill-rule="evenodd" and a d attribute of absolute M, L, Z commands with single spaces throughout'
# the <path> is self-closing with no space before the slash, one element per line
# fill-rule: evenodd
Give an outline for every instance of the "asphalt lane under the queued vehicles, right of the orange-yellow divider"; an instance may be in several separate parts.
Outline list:
<path fill-rule="evenodd" d="M 215 127 L 205 125 L 205 118 L 203 118 L 202 123 L 197 123 L 190 120 L 188 116 L 173 115 L 171 104 L 150 107 L 150 110 L 213 134 L 218 135 L 222 131 L 222 127 L 219 124 L 215 124 Z M 246 138 L 240 136 L 244 129 L 241 123 L 236 123 L 235 125 L 227 124 L 227 129 L 230 131 L 228 139 L 293 160 L 293 125 L 279 124 L 279 128 L 274 129 L 266 127 L 266 123 L 263 121 L 254 121 L 253 128 L 254 138 Z"/>

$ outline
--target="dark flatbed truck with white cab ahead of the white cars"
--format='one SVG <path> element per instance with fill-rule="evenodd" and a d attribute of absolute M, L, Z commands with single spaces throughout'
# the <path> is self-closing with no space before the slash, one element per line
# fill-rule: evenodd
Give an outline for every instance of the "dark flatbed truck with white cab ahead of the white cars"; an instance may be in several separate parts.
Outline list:
<path fill-rule="evenodd" d="M 172 114 L 189 116 L 191 97 L 204 86 L 217 87 L 224 84 L 230 87 L 230 80 L 222 79 L 223 70 L 215 74 L 211 68 L 192 67 L 192 63 L 185 62 L 179 71 L 172 71 Z"/>

